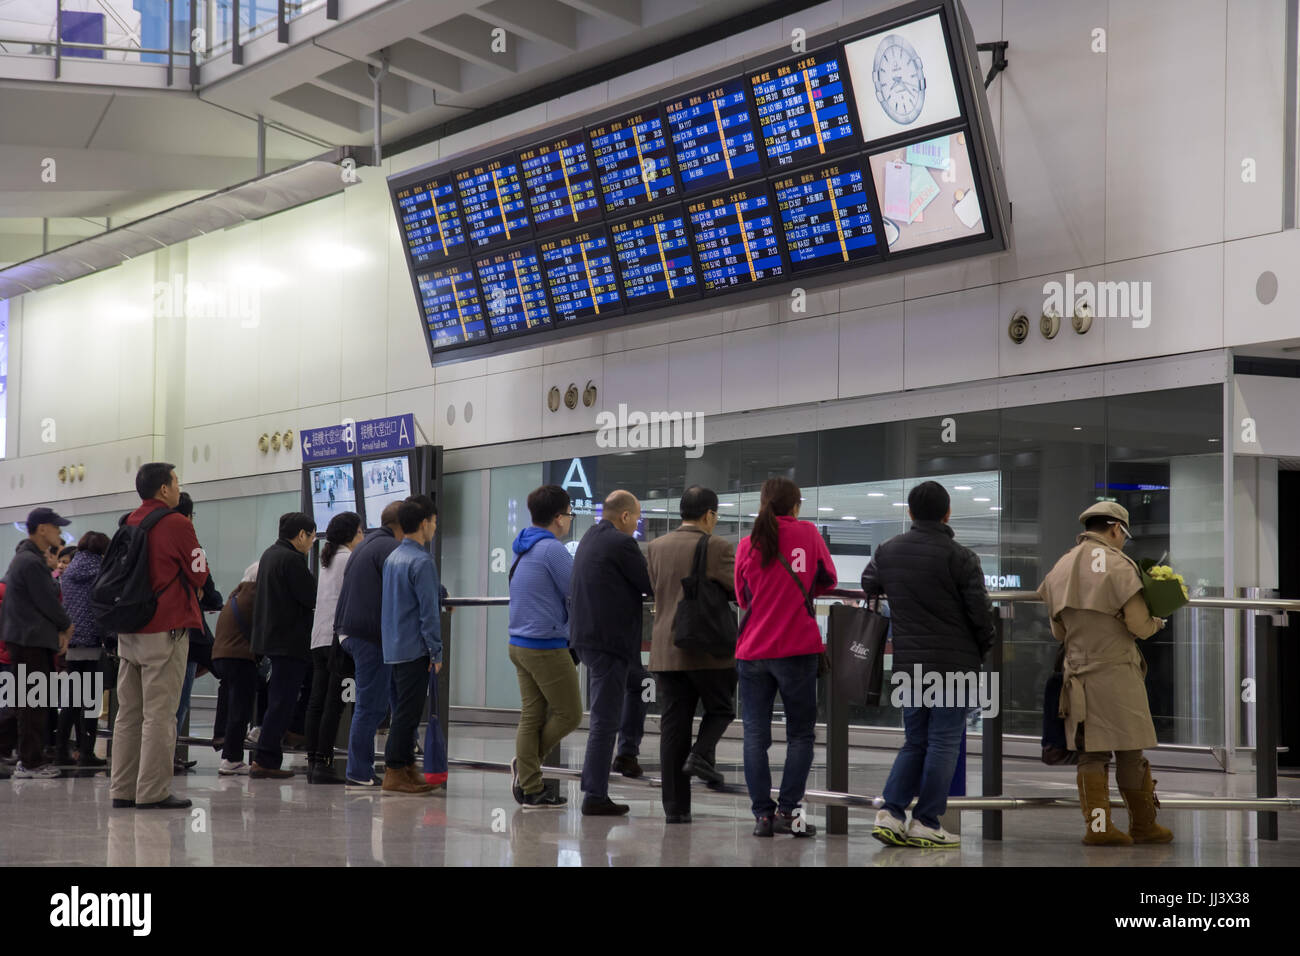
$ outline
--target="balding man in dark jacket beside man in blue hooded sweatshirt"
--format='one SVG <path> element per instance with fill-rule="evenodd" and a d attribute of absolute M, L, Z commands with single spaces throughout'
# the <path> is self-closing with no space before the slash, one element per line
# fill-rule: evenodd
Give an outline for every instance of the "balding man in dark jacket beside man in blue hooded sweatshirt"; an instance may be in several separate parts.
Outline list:
<path fill-rule="evenodd" d="M 650 571 L 637 546 L 641 502 L 610 492 L 601 520 L 588 528 L 573 555 L 569 644 L 592 678 L 592 726 L 582 760 L 582 816 L 616 817 L 627 804 L 610 800 L 610 766 L 619 727 L 640 719 L 628 700 L 628 671 L 641 670 L 641 604 L 651 593 Z"/>

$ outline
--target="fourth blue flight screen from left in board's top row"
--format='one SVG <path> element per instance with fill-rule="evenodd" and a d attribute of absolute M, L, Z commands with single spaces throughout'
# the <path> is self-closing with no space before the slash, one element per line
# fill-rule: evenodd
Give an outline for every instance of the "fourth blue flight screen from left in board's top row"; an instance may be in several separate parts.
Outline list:
<path fill-rule="evenodd" d="M 677 195 L 658 109 L 593 126 L 588 138 L 607 212 L 630 211 Z"/>

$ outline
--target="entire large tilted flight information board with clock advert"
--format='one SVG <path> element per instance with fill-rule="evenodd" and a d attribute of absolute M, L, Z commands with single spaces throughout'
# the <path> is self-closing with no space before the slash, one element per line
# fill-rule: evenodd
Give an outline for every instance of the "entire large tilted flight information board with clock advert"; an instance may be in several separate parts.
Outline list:
<path fill-rule="evenodd" d="M 915 0 L 581 122 L 389 178 L 434 364 L 1009 246 L 957 0 Z"/>

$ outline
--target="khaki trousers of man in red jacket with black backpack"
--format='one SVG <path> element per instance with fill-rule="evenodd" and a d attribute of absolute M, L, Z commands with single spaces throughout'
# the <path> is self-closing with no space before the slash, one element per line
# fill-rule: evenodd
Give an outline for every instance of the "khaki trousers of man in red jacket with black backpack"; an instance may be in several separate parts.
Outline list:
<path fill-rule="evenodd" d="M 181 704 L 190 635 L 183 628 L 117 637 L 117 723 L 113 726 L 113 800 L 155 804 L 172 792 L 176 711 Z"/>

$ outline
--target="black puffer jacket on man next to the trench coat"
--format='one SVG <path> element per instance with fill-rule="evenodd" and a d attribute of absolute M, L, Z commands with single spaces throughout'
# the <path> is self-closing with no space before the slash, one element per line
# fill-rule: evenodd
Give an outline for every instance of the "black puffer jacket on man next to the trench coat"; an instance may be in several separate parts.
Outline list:
<path fill-rule="evenodd" d="M 862 589 L 889 600 L 893 670 L 978 671 L 993 644 L 993 605 L 984 571 L 944 522 L 911 529 L 876 548 Z"/>

